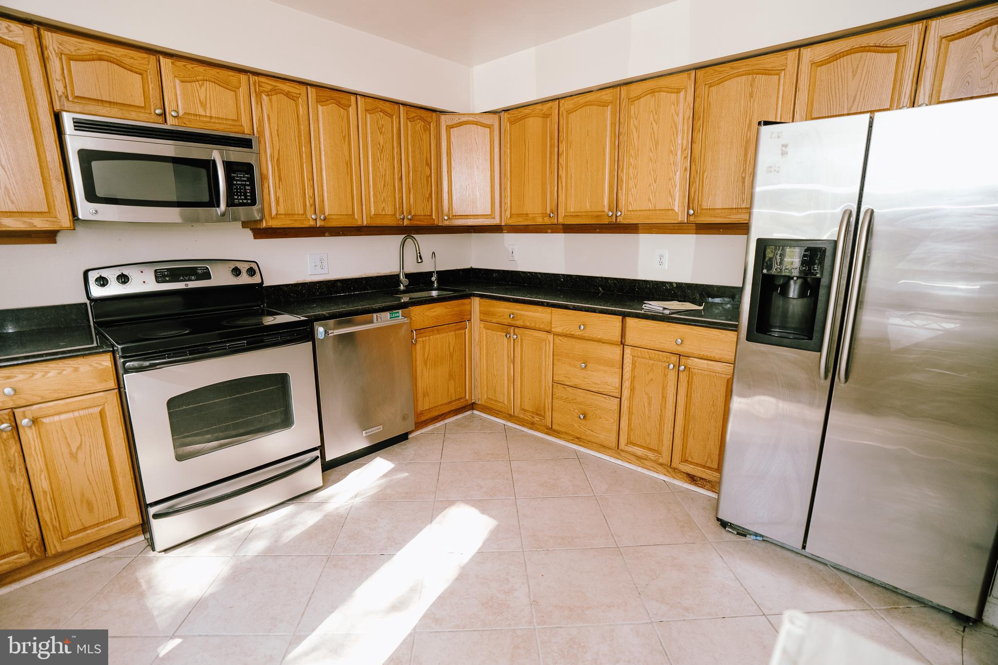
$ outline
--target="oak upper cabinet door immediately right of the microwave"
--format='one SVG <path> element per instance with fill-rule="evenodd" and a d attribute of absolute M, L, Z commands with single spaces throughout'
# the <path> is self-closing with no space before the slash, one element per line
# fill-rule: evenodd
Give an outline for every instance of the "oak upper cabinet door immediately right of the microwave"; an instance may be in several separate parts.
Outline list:
<path fill-rule="evenodd" d="M 259 139 L 259 171 L 266 226 L 312 226 L 312 180 L 306 86 L 251 77 L 253 119 Z"/>

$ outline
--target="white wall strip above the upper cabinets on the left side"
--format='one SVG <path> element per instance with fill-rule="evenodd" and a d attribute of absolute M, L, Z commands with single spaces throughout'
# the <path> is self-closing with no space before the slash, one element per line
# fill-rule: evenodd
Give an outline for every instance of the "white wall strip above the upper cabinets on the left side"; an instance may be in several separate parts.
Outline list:
<path fill-rule="evenodd" d="M 109 35 L 447 111 L 470 69 L 267 0 L 0 0 Z"/>

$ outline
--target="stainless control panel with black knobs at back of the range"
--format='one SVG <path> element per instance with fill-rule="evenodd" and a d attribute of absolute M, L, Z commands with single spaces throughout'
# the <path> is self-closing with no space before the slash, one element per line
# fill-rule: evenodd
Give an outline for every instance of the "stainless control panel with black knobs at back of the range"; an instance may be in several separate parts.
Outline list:
<path fill-rule="evenodd" d="M 204 286 L 262 284 L 256 261 L 157 261 L 91 268 L 83 273 L 90 299 Z"/>

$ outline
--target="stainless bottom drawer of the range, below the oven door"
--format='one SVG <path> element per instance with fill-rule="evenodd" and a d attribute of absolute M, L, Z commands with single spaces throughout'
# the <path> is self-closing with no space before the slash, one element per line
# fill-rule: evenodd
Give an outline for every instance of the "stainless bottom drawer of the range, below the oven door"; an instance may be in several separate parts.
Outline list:
<path fill-rule="evenodd" d="M 153 549 L 163 551 L 322 486 L 318 451 L 149 508 Z"/>

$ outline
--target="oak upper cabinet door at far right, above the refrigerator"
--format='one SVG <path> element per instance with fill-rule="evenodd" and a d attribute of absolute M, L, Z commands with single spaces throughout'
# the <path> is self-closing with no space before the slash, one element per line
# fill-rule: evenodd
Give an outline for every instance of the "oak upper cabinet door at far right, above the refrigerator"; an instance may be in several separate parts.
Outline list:
<path fill-rule="evenodd" d="M 998 5 L 928 22 L 916 104 L 998 94 Z"/>

